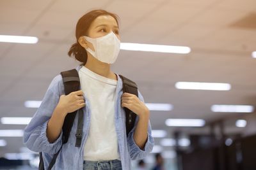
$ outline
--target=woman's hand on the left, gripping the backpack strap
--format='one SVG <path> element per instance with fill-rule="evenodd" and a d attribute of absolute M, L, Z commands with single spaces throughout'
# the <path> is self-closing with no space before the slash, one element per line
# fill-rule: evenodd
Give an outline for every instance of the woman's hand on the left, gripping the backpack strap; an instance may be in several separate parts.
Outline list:
<path fill-rule="evenodd" d="M 82 90 L 71 92 L 68 95 L 61 95 L 57 105 L 57 107 L 63 110 L 66 115 L 68 113 L 72 113 L 73 111 L 79 110 L 84 106 L 85 102 Z"/>

